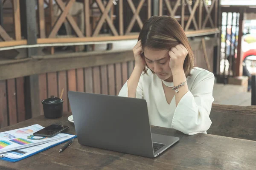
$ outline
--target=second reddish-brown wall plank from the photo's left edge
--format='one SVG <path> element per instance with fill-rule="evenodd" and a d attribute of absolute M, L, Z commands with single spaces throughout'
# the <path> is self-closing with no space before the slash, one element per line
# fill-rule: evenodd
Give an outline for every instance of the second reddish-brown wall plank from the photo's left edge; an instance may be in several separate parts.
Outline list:
<path fill-rule="evenodd" d="M 15 125 L 18 122 L 15 79 L 7 80 L 7 98 L 8 98 L 9 125 Z"/>

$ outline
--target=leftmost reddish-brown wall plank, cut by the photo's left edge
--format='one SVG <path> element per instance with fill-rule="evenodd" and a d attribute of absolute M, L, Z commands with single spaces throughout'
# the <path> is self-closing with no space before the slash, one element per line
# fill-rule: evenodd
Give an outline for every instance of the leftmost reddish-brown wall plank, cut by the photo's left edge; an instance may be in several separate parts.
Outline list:
<path fill-rule="evenodd" d="M 8 126 L 6 80 L 0 80 L 0 127 Z"/>

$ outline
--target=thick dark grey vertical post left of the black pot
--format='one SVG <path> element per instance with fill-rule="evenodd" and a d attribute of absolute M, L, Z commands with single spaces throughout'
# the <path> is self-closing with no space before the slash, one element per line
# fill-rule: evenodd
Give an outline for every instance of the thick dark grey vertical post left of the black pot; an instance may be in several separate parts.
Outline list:
<path fill-rule="evenodd" d="M 35 1 L 24 0 L 23 3 L 23 9 L 25 9 L 24 17 L 26 18 L 24 26 L 26 30 L 24 33 L 27 44 L 37 44 Z M 37 55 L 38 52 L 37 48 L 28 48 L 27 51 L 28 57 Z M 39 83 L 38 75 L 36 74 L 25 77 L 25 107 L 26 119 L 40 115 Z"/>

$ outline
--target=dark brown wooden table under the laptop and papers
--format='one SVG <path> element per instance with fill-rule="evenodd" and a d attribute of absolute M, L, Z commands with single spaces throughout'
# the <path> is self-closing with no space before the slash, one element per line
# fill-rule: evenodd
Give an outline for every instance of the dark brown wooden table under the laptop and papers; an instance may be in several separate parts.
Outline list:
<path fill-rule="evenodd" d="M 71 113 L 60 119 L 39 116 L 4 127 L 0 132 L 39 124 L 69 125 L 67 133 L 76 134 L 74 124 L 67 121 Z M 16 163 L 0 160 L 0 170 L 255 170 L 256 142 L 209 134 L 187 136 L 173 129 L 152 127 L 153 133 L 180 137 L 180 141 L 154 159 L 82 146 L 75 139 L 63 153 L 64 144 L 53 147 Z"/>

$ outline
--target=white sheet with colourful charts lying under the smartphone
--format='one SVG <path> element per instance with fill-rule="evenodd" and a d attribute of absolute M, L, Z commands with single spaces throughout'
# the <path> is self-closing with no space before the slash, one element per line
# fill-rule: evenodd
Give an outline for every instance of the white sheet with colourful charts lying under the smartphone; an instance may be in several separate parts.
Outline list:
<path fill-rule="evenodd" d="M 58 141 L 61 139 L 67 139 L 67 134 L 59 133 L 51 138 L 33 136 L 33 133 L 44 127 L 38 124 L 23 127 L 20 129 L 9 130 L 0 133 L 0 153 L 8 152 L 11 150 L 19 150 L 25 147 L 32 147 L 38 144 L 49 143 L 53 141 Z"/>

